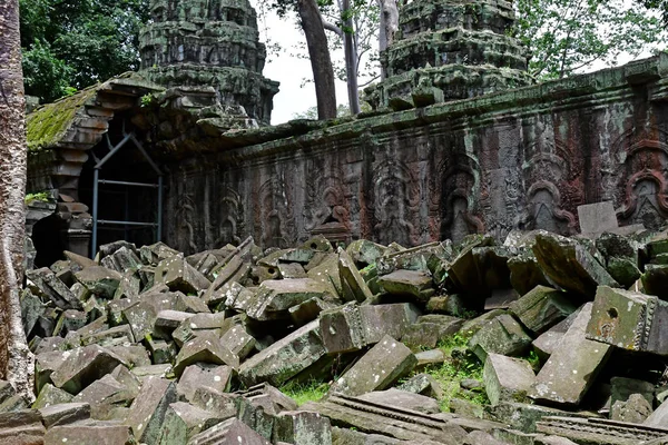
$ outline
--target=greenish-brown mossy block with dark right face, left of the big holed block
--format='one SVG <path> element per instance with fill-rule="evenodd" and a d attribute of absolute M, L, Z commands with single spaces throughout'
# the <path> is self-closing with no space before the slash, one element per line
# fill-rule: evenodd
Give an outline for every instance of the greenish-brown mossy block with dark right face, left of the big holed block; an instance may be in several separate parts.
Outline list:
<path fill-rule="evenodd" d="M 540 335 L 576 312 L 577 307 L 560 290 L 537 286 L 510 305 L 510 313 L 534 335 Z"/>

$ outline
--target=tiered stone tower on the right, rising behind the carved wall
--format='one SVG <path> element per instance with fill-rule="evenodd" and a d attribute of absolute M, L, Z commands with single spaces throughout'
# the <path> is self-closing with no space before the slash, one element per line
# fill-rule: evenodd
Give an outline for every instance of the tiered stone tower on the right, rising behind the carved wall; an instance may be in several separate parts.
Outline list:
<path fill-rule="evenodd" d="M 411 2 L 381 56 L 386 78 L 365 91 L 366 100 L 402 109 L 531 83 L 528 51 L 509 33 L 513 23 L 512 1 Z"/>

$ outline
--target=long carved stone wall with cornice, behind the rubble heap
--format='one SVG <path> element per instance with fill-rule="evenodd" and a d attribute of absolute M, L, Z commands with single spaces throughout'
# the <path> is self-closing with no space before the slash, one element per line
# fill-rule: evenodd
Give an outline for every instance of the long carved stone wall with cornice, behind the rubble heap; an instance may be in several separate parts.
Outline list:
<path fill-rule="evenodd" d="M 166 241 L 195 251 L 248 235 L 285 247 L 314 234 L 404 246 L 574 234 L 577 207 L 600 200 L 622 225 L 657 228 L 668 216 L 667 69 L 662 55 L 255 146 L 243 141 L 272 137 L 219 135 L 206 142 L 218 152 L 169 166 Z"/>

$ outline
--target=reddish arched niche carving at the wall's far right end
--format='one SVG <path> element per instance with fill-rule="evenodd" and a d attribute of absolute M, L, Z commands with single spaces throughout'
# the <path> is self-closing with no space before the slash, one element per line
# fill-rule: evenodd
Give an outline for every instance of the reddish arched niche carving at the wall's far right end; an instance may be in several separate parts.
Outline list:
<path fill-rule="evenodd" d="M 642 224 L 659 229 L 668 218 L 668 134 L 656 128 L 633 128 L 621 135 L 603 168 L 603 186 L 615 190 L 621 225 Z"/>

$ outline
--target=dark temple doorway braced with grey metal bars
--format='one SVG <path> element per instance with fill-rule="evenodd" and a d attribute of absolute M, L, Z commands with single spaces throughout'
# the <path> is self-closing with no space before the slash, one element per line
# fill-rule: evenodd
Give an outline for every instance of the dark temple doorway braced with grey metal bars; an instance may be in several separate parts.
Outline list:
<path fill-rule="evenodd" d="M 112 122 L 81 172 L 80 199 L 92 214 L 91 257 L 119 239 L 141 246 L 163 237 L 163 172 L 125 127 Z"/>

